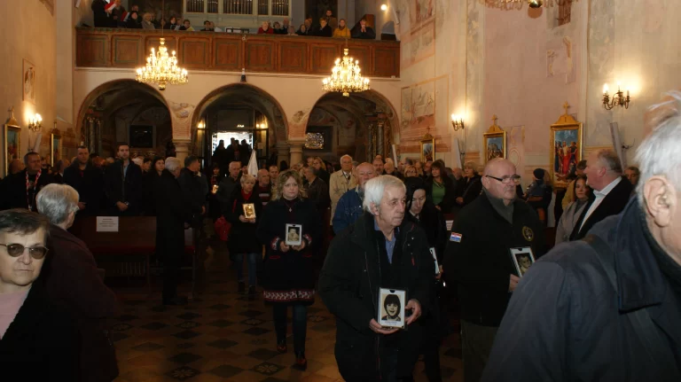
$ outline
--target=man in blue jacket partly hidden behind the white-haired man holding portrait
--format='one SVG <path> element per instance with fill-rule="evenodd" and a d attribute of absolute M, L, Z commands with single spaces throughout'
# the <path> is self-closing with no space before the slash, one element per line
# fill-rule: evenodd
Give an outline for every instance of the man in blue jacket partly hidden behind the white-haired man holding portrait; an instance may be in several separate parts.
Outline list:
<path fill-rule="evenodd" d="M 364 183 L 376 176 L 371 163 L 362 163 L 355 169 L 357 185 L 355 190 L 349 190 L 343 194 L 336 204 L 333 213 L 333 232 L 338 235 L 341 230 L 345 230 L 349 225 L 354 224 L 359 219 L 362 212 L 362 201 L 364 200 Z"/>

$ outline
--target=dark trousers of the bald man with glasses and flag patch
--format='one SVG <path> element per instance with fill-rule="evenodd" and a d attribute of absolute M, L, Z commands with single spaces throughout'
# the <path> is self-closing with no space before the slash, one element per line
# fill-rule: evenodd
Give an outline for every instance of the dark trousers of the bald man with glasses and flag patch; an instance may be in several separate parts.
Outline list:
<path fill-rule="evenodd" d="M 497 326 L 481 326 L 461 320 L 464 382 L 479 382 L 497 336 Z"/>

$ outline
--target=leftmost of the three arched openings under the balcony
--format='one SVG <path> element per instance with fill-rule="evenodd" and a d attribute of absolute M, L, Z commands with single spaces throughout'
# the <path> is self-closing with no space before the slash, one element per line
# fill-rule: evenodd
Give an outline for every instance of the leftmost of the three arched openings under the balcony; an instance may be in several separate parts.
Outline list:
<path fill-rule="evenodd" d="M 158 90 L 132 80 L 106 82 L 85 97 L 78 113 L 78 142 L 102 157 L 114 157 L 126 142 L 131 155 L 164 155 L 172 142 L 168 105 Z"/>

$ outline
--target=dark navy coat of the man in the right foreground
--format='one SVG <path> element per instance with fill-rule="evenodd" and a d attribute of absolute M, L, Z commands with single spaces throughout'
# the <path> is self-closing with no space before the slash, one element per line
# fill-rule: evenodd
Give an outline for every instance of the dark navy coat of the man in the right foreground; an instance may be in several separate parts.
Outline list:
<path fill-rule="evenodd" d="M 650 237 L 643 214 L 631 200 L 589 235 L 608 247 L 619 288 L 607 276 L 607 255 L 581 240 L 554 247 L 528 270 L 482 381 L 681 380 L 681 304 L 665 275 L 678 265 Z M 641 314 L 649 318 L 639 321 Z"/>

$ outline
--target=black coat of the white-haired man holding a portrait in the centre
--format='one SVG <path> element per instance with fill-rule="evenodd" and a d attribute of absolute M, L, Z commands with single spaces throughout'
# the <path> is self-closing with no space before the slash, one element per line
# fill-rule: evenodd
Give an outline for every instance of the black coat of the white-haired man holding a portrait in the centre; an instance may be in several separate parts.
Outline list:
<path fill-rule="evenodd" d="M 419 325 L 388 337 L 369 328 L 379 316 L 380 287 L 407 290 L 407 299 L 419 300 L 424 314 L 430 308 L 434 261 L 425 232 L 404 219 L 388 264 L 380 248 L 385 248 L 385 237 L 373 224 L 373 216 L 365 213 L 333 238 L 319 277 L 319 295 L 336 316 L 336 361 L 348 381 L 376 380 L 377 348 L 400 349 L 397 377 L 411 376 L 419 356 Z"/>

